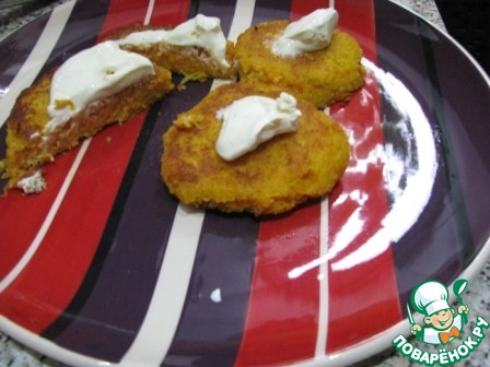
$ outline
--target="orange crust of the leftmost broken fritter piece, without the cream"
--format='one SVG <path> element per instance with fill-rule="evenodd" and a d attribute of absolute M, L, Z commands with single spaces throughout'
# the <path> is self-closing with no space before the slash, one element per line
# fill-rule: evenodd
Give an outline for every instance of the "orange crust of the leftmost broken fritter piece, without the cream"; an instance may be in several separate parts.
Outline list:
<path fill-rule="evenodd" d="M 108 125 L 125 122 L 174 87 L 171 72 L 155 67 L 153 75 L 90 104 L 66 125 L 45 132 L 44 127 L 50 121 L 47 106 L 54 73 L 55 70 L 43 75 L 22 92 L 7 120 L 7 154 L 2 161 L 2 177 L 9 179 L 7 188 L 15 187 L 19 179 L 31 176 L 82 139 Z"/>

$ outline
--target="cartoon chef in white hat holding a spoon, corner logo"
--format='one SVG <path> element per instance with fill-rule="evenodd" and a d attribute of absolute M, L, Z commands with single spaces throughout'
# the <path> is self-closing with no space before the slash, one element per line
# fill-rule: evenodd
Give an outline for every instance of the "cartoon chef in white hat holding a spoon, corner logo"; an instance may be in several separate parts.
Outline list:
<path fill-rule="evenodd" d="M 410 331 L 416 335 L 416 340 L 444 345 L 455 338 L 460 338 L 462 329 L 468 322 L 469 308 L 460 299 L 467 283 L 466 280 L 454 283 L 453 291 L 458 301 L 456 310 L 450 306 L 450 292 L 441 282 L 427 281 L 413 288 L 410 297 L 411 306 L 424 316 L 424 325 L 416 323 L 407 304 Z"/>

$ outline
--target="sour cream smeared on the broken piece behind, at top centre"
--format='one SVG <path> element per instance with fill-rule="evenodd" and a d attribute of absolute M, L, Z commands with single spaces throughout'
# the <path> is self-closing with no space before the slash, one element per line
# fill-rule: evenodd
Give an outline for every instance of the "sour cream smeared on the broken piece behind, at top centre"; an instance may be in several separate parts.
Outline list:
<path fill-rule="evenodd" d="M 175 46 L 201 47 L 221 66 L 230 67 L 226 61 L 226 38 L 219 17 L 198 14 L 171 31 L 133 32 L 118 43 L 138 46 L 167 43 Z"/>

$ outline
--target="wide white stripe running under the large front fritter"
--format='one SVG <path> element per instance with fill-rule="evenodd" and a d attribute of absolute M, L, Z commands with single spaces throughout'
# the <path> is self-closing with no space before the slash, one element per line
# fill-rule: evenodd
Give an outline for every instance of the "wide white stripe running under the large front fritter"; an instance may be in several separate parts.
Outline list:
<path fill-rule="evenodd" d="M 237 1 L 230 40 L 250 26 L 254 9 L 255 0 Z M 211 90 L 226 82 L 215 80 Z M 168 353 L 187 295 L 203 220 L 205 211 L 178 205 L 152 300 L 120 366 L 160 366 Z"/>

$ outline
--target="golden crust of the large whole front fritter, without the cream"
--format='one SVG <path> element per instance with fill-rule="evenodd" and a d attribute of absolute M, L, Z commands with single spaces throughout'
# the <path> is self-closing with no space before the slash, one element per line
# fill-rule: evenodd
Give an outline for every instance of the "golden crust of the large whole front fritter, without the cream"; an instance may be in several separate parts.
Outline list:
<path fill-rule="evenodd" d="M 179 115 L 163 135 L 161 174 L 170 192 L 186 204 L 255 215 L 279 214 L 329 192 L 347 167 L 350 146 L 342 128 L 310 103 L 298 100 L 295 132 L 232 162 L 215 152 L 219 109 L 248 95 L 277 98 L 281 91 L 232 83 Z"/>

